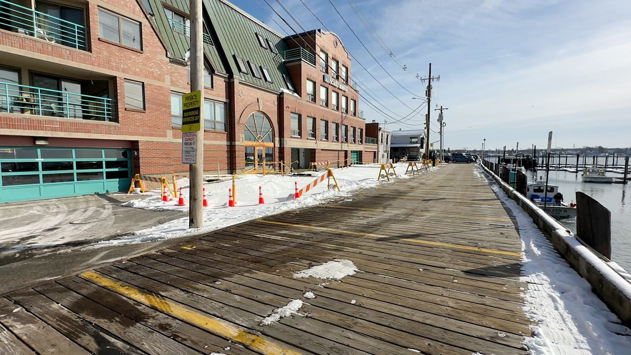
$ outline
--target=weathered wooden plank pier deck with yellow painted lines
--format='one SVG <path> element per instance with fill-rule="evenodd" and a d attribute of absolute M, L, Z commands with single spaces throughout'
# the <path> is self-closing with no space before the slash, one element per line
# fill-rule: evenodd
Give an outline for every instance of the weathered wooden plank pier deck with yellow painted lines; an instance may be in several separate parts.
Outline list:
<path fill-rule="evenodd" d="M 476 169 L 445 164 L 12 292 L 0 354 L 527 354 L 521 243 Z M 293 277 L 334 259 L 360 272 Z M 292 299 L 300 315 L 259 325 Z"/>

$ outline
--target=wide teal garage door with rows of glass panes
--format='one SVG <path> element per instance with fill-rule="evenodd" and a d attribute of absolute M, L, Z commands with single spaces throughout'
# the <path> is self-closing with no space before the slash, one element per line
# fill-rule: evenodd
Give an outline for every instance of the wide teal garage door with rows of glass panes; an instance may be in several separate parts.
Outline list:
<path fill-rule="evenodd" d="M 127 191 L 131 151 L 0 147 L 0 203 Z"/>

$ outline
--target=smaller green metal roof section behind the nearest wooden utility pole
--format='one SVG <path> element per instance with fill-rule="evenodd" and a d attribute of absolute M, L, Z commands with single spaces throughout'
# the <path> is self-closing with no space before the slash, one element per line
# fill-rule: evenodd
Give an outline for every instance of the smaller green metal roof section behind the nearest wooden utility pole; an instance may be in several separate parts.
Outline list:
<path fill-rule="evenodd" d="M 153 10 L 153 20 L 157 27 L 158 32 L 162 36 L 168 53 L 172 57 L 184 59 L 184 54 L 191 48 L 191 38 L 180 32 L 173 30 L 171 24 L 167 20 L 167 15 L 164 12 L 163 3 L 172 6 L 175 9 L 179 9 L 182 14 L 189 16 L 189 1 L 188 0 L 146 0 Z M 216 43 L 216 37 L 213 35 L 211 28 L 208 28 L 210 37 L 213 44 Z M 204 53 L 206 58 L 218 73 L 228 74 L 227 69 L 221 59 L 221 56 L 214 45 L 208 45 L 204 43 Z"/>

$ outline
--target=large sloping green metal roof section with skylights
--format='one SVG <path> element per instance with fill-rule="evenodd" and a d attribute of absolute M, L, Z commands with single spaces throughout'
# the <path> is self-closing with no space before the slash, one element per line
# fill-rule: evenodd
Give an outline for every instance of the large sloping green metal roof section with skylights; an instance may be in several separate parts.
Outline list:
<path fill-rule="evenodd" d="M 213 26 L 213 30 L 209 30 L 215 32 L 219 40 L 219 47 L 225 53 L 226 63 L 230 66 L 232 74 L 242 81 L 266 87 L 275 92 L 286 89 L 283 75 L 286 76 L 287 80 L 291 79 L 285 64 L 283 64 L 283 58 L 269 49 L 261 47 L 256 33 L 261 35 L 263 39 L 269 40 L 277 52 L 288 49 L 283 37 L 228 1 L 203 1 Z M 248 68 L 249 74 L 240 73 L 233 55 L 256 64 L 257 68 L 259 66 L 266 68 L 273 83 L 268 83 L 262 75 L 260 79 L 255 78 L 250 68 Z M 258 70 L 261 71 L 260 68 Z"/>

